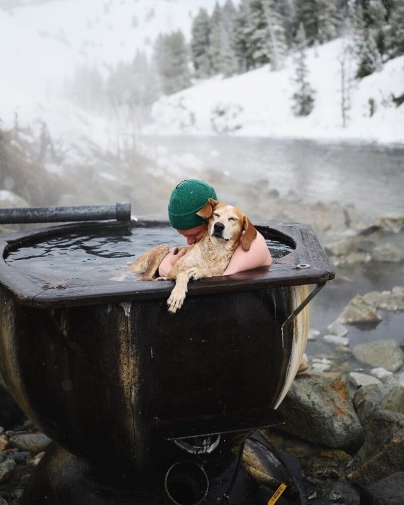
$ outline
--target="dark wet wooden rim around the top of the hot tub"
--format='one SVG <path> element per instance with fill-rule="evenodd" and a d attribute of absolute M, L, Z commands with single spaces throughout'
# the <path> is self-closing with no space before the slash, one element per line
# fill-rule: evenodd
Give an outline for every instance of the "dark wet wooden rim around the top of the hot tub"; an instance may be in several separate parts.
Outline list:
<path fill-rule="evenodd" d="M 332 265 L 310 225 L 279 222 L 255 222 L 254 224 L 267 238 L 278 238 L 288 245 L 295 244 L 295 249 L 275 262 L 270 268 L 263 267 L 234 275 L 200 279 L 198 282 L 190 283 L 188 296 L 246 291 L 263 287 L 323 284 L 335 277 Z M 119 282 L 86 279 L 83 283 L 83 279 L 66 279 L 66 288 L 52 287 L 51 289 L 44 289 L 42 286 L 48 283 L 52 284 L 52 279 L 28 275 L 5 261 L 8 251 L 62 232 L 86 231 L 99 227 L 109 230 L 158 226 L 169 226 L 169 223 L 157 219 L 142 219 L 132 221 L 130 224 L 122 224 L 116 221 L 96 221 L 71 223 L 3 235 L 0 237 L 0 252 L 3 259 L 3 261 L 0 261 L 0 284 L 15 295 L 19 304 L 38 309 L 129 302 L 135 299 L 166 298 L 172 290 L 173 283 L 171 281 L 152 283 L 128 278 Z M 298 267 L 304 264 L 309 265 L 309 267 Z"/>

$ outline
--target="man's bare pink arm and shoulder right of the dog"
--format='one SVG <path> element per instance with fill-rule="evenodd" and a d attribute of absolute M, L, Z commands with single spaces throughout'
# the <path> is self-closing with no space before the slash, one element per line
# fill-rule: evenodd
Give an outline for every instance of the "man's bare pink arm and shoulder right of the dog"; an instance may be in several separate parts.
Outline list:
<path fill-rule="evenodd" d="M 252 241 L 248 251 L 245 251 L 241 244 L 238 244 L 231 257 L 230 263 L 222 275 L 230 275 L 258 267 L 266 267 L 272 265 L 272 263 L 271 253 L 268 250 L 265 238 L 258 232 L 257 238 Z"/>

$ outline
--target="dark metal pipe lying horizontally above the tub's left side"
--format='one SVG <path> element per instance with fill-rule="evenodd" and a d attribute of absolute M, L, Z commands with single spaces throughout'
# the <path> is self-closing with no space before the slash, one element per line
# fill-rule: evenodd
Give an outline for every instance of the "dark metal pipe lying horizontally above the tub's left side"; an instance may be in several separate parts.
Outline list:
<path fill-rule="evenodd" d="M 64 223 L 110 219 L 130 221 L 130 203 L 0 209 L 0 224 Z"/>

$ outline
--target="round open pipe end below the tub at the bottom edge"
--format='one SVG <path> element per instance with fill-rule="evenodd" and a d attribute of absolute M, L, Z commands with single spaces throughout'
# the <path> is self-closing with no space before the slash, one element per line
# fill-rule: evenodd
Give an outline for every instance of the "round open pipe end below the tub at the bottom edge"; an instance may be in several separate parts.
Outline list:
<path fill-rule="evenodd" d="M 205 470 L 193 461 L 174 463 L 166 473 L 164 489 L 167 503 L 173 505 L 200 505 L 209 490 Z"/>

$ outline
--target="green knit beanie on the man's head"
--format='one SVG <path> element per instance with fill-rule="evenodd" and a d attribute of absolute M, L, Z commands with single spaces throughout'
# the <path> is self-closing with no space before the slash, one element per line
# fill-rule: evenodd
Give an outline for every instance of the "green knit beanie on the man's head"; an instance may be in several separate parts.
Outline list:
<path fill-rule="evenodd" d="M 171 226 L 176 230 L 188 230 L 206 223 L 206 220 L 196 213 L 204 207 L 208 198 L 217 200 L 216 191 L 205 181 L 186 179 L 177 184 L 168 204 Z"/>

